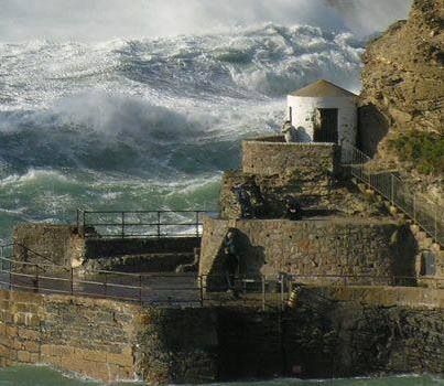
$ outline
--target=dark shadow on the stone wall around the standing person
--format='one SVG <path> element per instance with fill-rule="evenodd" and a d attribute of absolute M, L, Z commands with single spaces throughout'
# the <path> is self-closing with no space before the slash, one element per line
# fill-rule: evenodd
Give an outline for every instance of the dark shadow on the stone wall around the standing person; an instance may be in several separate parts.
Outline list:
<path fill-rule="evenodd" d="M 253 246 L 249 237 L 237 228 L 229 228 L 235 232 L 235 248 L 239 258 L 239 276 L 248 278 L 260 278 L 261 269 L 266 265 L 263 247 Z M 227 233 L 228 233 L 227 232 Z M 206 280 L 207 291 L 225 291 L 228 289 L 226 279 L 226 255 L 225 237 L 220 240 L 217 256 L 213 261 L 212 269 Z"/>

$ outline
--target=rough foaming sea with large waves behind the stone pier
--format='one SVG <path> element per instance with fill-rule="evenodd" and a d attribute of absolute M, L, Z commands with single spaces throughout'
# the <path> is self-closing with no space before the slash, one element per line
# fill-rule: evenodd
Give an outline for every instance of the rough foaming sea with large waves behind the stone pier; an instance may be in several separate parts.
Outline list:
<path fill-rule="evenodd" d="M 359 90 L 366 39 L 305 24 L 100 42 L 0 36 L 0 242 L 85 210 L 214 210 L 240 141 L 318 78 Z"/>

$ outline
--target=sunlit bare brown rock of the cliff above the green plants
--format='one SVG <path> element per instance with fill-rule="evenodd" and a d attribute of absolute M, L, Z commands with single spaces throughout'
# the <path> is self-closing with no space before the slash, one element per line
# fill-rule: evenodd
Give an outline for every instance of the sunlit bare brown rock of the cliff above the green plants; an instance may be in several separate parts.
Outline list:
<path fill-rule="evenodd" d="M 415 0 L 410 19 L 367 49 L 362 99 L 393 129 L 444 133 L 443 26 L 444 0 Z"/>

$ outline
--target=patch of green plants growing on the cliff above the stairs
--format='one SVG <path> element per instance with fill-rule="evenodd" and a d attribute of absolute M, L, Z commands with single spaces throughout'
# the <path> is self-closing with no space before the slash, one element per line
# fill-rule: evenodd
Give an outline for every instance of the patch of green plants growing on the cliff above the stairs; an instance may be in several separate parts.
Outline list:
<path fill-rule="evenodd" d="M 415 164 L 423 174 L 444 173 L 444 137 L 434 132 L 412 130 L 390 140 L 401 161 Z"/>

